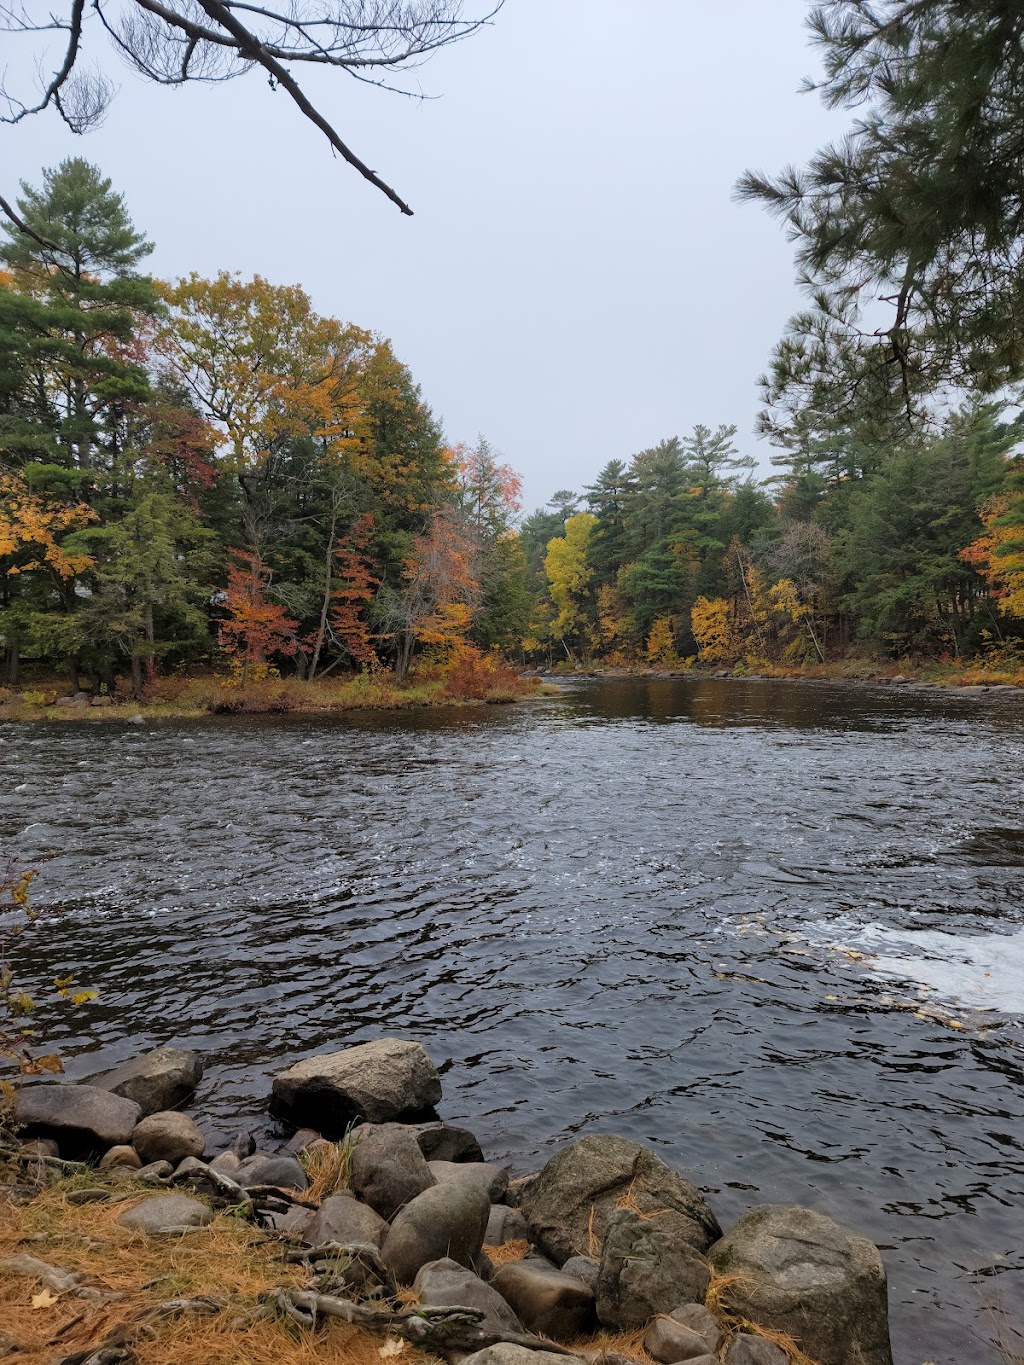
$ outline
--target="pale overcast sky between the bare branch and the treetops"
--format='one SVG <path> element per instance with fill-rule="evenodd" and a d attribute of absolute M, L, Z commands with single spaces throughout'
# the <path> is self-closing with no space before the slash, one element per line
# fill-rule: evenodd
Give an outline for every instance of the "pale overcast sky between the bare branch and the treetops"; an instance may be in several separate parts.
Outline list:
<path fill-rule="evenodd" d="M 847 123 L 797 94 L 815 71 L 807 8 L 507 0 L 422 68 L 437 100 L 313 72 L 412 218 L 259 75 L 147 86 L 97 31 L 120 83 L 106 123 L 0 130 L 0 190 L 85 156 L 156 240 L 157 274 L 300 283 L 319 311 L 389 336 L 449 440 L 483 433 L 522 471 L 527 508 L 696 422 L 735 422 L 766 460 L 756 377 L 799 295 L 778 225 L 732 186 Z"/>

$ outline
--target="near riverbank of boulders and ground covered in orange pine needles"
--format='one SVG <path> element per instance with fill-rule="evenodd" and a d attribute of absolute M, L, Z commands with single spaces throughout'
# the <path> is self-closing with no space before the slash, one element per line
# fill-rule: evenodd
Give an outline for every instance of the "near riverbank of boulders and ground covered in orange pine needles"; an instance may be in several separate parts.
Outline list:
<path fill-rule="evenodd" d="M 292 1136 L 277 1151 L 243 1133 L 208 1155 L 182 1111 L 201 1080 L 198 1054 L 158 1048 L 89 1082 L 18 1089 L 0 1166 L 7 1351 L 40 1365 L 892 1365 L 870 1241 L 799 1205 L 751 1208 L 724 1231 L 705 1192 L 627 1137 L 578 1138 L 513 1177 L 438 1119 L 419 1043 L 279 1072 L 270 1108 Z"/>

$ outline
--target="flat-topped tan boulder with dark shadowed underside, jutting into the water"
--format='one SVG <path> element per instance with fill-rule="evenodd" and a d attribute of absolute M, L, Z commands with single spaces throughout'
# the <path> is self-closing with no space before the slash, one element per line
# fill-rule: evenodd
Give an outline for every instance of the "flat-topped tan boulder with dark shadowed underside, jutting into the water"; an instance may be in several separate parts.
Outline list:
<path fill-rule="evenodd" d="M 289 1122 L 339 1137 L 358 1119 L 415 1118 L 440 1099 L 441 1078 L 422 1044 L 380 1039 L 280 1072 L 270 1103 Z"/>

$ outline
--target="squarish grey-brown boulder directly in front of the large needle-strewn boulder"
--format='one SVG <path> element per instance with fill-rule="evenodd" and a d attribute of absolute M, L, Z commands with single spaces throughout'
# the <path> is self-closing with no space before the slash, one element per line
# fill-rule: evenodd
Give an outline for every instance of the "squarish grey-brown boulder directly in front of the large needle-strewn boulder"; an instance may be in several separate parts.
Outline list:
<path fill-rule="evenodd" d="M 608 1219 L 597 1282 L 597 1310 L 605 1327 L 643 1327 L 676 1304 L 699 1304 L 711 1271 L 687 1239 L 692 1220 L 681 1213 L 640 1218 L 616 1209 Z"/>

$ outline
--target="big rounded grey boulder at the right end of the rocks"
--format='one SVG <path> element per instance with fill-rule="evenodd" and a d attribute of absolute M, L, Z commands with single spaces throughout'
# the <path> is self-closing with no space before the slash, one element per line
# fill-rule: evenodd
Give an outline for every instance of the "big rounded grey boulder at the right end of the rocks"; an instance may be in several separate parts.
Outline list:
<path fill-rule="evenodd" d="M 789 1332 L 821 1365 L 892 1365 L 885 1268 L 867 1238 L 810 1208 L 763 1204 L 710 1257 L 739 1276 L 730 1312 Z"/>

